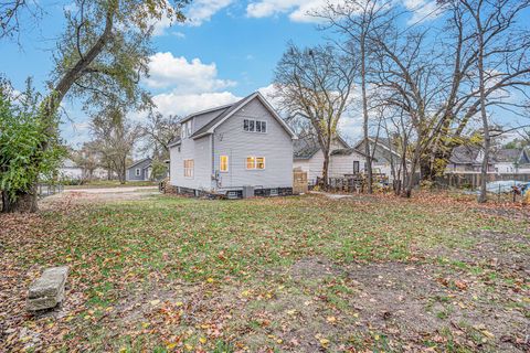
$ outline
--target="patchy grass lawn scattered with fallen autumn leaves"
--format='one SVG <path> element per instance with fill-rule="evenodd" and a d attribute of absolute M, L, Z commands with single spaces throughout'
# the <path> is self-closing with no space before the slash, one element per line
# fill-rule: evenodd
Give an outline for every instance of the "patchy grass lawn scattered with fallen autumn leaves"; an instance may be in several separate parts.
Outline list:
<path fill-rule="evenodd" d="M 524 217 L 443 196 L 62 197 L 0 215 L 0 351 L 530 349 Z M 26 314 L 59 265 L 65 302 Z"/>

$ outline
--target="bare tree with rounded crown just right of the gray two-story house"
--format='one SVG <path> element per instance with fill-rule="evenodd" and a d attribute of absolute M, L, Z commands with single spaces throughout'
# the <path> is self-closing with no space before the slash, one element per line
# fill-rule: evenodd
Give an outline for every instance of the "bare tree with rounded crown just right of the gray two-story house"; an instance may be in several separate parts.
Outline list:
<path fill-rule="evenodd" d="M 282 108 L 310 122 L 324 152 L 325 186 L 331 143 L 350 99 L 357 66 L 331 45 L 303 50 L 294 44 L 276 66 L 274 82 Z"/>

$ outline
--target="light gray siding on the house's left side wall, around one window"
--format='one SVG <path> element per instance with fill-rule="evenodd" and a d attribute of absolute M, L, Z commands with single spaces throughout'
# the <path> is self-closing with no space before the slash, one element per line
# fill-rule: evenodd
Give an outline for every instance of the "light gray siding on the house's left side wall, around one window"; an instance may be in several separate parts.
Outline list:
<path fill-rule="evenodd" d="M 184 176 L 184 160 L 193 160 L 193 176 Z M 212 147 L 211 136 L 199 139 L 184 138 L 179 147 L 170 149 L 171 185 L 211 191 Z"/>

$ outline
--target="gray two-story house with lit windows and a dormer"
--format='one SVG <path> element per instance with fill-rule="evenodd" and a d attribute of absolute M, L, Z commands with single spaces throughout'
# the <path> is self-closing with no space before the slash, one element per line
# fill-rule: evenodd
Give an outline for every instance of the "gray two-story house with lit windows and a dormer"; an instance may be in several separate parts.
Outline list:
<path fill-rule="evenodd" d="M 181 131 L 170 143 L 170 183 L 180 192 L 229 197 L 293 192 L 296 135 L 259 93 L 189 115 Z"/>

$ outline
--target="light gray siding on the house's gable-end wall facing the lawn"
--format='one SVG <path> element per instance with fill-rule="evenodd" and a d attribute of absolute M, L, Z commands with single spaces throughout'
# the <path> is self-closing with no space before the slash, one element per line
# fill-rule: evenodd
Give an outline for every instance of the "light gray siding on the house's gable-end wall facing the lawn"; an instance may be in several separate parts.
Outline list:
<path fill-rule="evenodd" d="M 267 132 L 244 131 L 244 119 L 266 121 Z M 215 171 L 220 156 L 229 156 L 229 171 L 219 172 L 218 190 L 293 186 L 293 139 L 257 98 L 215 129 L 213 147 Z M 247 157 L 265 157 L 265 169 L 247 170 Z"/>

